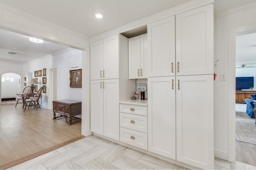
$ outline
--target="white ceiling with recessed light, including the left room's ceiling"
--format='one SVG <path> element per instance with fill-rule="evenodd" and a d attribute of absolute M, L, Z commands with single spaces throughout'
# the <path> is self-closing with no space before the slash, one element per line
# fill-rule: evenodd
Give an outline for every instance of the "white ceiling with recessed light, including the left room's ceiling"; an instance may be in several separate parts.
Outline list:
<path fill-rule="evenodd" d="M 188 1 L 0 0 L 0 3 L 92 37 Z M 214 11 L 222 12 L 253 2 L 255 0 L 215 0 Z M 95 18 L 96 12 L 104 14 L 104 17 L 101 20 Z M 67 48 L 54 43 L 35 44 L 27 40 L 28 37 L 25 35 L 0 30 L 0 61 L 26 63 Z M 20 55 L 7 55 L 6 51 L 20 53 Z"/>

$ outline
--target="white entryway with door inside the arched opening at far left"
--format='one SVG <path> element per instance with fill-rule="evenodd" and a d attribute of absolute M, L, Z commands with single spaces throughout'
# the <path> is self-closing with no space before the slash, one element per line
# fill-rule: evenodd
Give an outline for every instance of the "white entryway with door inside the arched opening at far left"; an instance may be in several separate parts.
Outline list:
<path fill-rule="evenodd" d="M 20 90 L 20 76 L 15 73 L 5 73 L 2 75 L 2 99 L 16 98 L 16 94 Z"/>

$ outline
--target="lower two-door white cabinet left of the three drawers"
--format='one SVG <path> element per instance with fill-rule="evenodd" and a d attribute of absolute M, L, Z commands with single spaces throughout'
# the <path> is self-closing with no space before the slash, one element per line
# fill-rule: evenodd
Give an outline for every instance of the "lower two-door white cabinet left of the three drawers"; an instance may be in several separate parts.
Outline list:
<path fill-rule="evenodd" d="M 91 131 L 119 140 L 119 79 L 91 80 Z"/>

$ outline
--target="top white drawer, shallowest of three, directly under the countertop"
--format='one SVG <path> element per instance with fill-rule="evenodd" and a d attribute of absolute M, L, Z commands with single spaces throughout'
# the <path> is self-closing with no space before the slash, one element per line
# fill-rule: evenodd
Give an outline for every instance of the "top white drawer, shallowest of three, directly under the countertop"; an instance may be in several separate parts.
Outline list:
<path fill-rule="evenodd" d="M 120 104 L 120 112 L 147 116 L 148 107 Z"/>

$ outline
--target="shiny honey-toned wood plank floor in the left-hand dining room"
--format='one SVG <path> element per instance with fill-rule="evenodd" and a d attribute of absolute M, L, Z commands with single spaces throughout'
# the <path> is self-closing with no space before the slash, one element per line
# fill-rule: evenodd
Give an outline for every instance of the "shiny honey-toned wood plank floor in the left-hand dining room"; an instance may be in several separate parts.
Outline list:
<path fill-rule="evenodd" d="M 0 167 L 81 137 L 81 123 L 68 126 L 64 118 L 52 117 L 52 110 L 0 104 Z"/>

